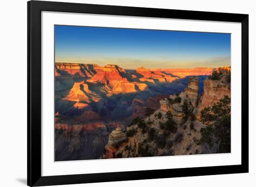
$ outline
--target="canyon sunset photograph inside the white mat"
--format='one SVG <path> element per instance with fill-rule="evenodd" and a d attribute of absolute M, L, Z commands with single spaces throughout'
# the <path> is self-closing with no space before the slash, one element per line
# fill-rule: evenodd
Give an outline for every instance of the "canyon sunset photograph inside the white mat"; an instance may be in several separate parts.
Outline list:
<path fill-rule="evenodd" d="M 54 26 L 55 161 L 231 152 L 231 35 Z"/>

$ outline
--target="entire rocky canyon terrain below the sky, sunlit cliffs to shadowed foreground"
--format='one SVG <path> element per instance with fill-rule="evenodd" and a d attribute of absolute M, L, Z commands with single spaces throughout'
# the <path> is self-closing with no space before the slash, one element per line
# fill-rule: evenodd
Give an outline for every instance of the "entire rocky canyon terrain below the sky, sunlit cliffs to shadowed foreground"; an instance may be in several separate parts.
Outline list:
<path fill-rule="evenodd" d="M 55 161 L 227 152 L 205 137 L 219 127 L 211 107 L 230 106 L 230 67 L 54 68 Z"/>

